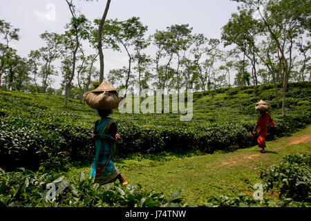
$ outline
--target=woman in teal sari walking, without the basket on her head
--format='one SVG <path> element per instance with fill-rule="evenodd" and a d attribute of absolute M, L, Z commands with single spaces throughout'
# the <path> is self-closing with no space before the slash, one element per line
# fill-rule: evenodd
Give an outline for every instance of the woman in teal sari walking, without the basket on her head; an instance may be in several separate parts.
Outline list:
<path fill-rule="evenodd" d="M 119 180 L 122 185 L 128 184 L 125 182 L 120 171 L 115 168 L 115 164 L 111 161 L 111 154 L 114 147 L 114 142 L 120 139 L 117 134 L 117 125 L 113 122 L 109 114 L 111 110 L 97 110 L 98 115 L 102 117 L 95 122 L 94 135 L 95 142 L 95 157 L 91 167 L 90 177 L 94 178 L 99 184 L 107 184 Z"/>

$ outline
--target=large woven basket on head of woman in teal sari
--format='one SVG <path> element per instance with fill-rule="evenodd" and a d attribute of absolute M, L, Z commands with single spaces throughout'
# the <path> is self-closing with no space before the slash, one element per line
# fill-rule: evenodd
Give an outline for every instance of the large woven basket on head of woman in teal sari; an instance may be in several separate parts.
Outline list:
<path fill-rule="evenodd" d="M 100 86 L 84 95 L 88 106 L 97 110 L 112 110 L 119 106 L 123 97 L 119 97 L 117 88 L 113 88 L 108 82 L 103 81 Z"/>

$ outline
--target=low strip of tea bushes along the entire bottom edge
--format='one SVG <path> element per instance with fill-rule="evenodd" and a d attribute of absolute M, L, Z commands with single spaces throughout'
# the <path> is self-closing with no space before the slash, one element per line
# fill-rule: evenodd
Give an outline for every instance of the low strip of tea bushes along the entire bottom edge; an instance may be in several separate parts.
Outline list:
<path fill-rule="evenodd" d="M 50 186 L 55 186 L 53 198 Z M 52 187 L 53 188 L 53 187 Z M 122 186 L 110 183 L 100 186 L 83 172 L 72 180 L 64 174 L 45 171 L 43 167 L 33 172 L 23 168 L 15 172 L 0 169 L 0 207 L 303 207 L 309 202 L 291 199 L 256 200 L 252 195 L 209 197 L 203 204 L 185 203 L 182 191 L 170 196 L 155 191 L 146 191 L 144 186 Z"/>

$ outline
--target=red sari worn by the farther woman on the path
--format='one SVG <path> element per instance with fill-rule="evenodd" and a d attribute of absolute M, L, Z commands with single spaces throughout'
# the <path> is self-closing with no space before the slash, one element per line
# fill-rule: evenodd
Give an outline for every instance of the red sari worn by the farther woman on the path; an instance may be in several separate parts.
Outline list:
<path fill-rule="evenodd" d="M 265 137 L 267 135 L 267 125 L 275 126 L 275 123 L 272 117 L 270 116 L 270 114 L 265 113 L 264 115 L 261 115 L 258 118 L 258 122 L 257 122 L 257 127 L 258 127 L 257 142 L 258 142 L 258 147 L 260 148 L 265 148 Z"/>

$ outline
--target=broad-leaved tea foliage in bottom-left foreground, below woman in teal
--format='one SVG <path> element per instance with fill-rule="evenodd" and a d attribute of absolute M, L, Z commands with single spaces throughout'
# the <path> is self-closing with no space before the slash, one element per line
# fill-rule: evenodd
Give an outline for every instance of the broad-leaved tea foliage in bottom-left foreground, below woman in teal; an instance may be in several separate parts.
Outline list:
<path fill-rule="evenodd" d="M 181 191 L 168 198 L 163 193 L 146 191 L 143 186 L 122 186 L 117 183 L 100 186 L 80 172 L 73 180 L 55 171 L 37 172 L 21 169 L 7 173 L 0 169 L 0 207 L 160 207 L 182 206 Z M 46 198 L 48 184 L 55 184 L 55 199 Z"/>

